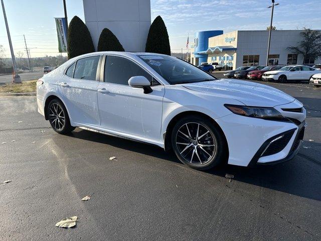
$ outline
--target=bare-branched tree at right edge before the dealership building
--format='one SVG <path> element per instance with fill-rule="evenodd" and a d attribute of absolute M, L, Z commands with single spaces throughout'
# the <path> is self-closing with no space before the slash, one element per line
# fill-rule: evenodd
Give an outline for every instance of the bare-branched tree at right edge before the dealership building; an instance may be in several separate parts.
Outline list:
<path fill-rule="evenodd" d="M 287 49 L 295 54 L 303 56 L 303 62 L 307 58 L 321 57 L 321 32 L 303 28 L 300 33 L 302 40 L 298 42 L 298 46 L 290 46 Z"/>

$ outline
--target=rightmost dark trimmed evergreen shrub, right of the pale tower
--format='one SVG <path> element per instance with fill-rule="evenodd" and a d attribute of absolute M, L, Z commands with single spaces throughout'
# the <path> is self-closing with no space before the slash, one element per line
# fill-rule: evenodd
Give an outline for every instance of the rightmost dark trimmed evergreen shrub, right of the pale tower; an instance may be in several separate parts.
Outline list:
<path fill-rule="evenodd" d="M 145 52 L 171 55 L 169 34 L 161 16 L 150 25 Z"/>

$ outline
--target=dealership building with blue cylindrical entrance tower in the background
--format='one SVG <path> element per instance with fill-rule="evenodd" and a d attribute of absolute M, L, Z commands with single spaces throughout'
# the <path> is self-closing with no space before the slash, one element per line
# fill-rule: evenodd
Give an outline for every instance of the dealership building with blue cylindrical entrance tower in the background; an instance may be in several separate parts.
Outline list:
<path fill-rule="evenodd" d="M 210 32 L 210 31 L 207 31 Z M 215 31 L 212 31 L 215 32 Z M 297 46 L 302 40 L 301 30 L 275 30 L 271 34 L 269 65 L 272 64 L 317 64 L 320 59 L 313 57 L 303 61 L 302 55 L 293 54 L 287 49 L 289 46 Z M 236 69 L 240 66 L 266 65 L 267 42 L 269 31 L 234 31 L 226 34 L 208 36 L 202 41 L 208 41 L 200 45 L 199 38 L 202 32 L 197 32 L 194 39 L 194 51 L 192 49 L 190 62 L 199 65 L 202 62 L 217 62 L 224 69 Z M 201 37 L 199 37 L 201 36 Z M 203 36 L 204 38 L 204 36 Z"/>

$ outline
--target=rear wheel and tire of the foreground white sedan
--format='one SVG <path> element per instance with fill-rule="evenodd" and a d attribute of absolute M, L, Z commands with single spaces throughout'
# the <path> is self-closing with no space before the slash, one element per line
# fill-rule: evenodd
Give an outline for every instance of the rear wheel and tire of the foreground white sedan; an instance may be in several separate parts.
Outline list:
<path fill-rule="evenodd" d="M 55 132 L 59 134 L 68 134 L 75 130 L 75 127 L 70 125 L 67 109 L 61 100 L 51 100 L 48 104 L 47 113 L 49 123 Z"/>

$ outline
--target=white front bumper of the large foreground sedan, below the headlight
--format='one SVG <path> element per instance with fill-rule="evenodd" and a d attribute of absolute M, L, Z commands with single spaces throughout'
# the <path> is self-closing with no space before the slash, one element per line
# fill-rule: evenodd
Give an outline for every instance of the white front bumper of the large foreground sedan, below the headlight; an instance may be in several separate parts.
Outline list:
<path fill-rule="evenodd" d="M 304 108 L 302 108 L 302 112 L 290 112 L 288 109 L 298 107 L 302 107 L 302 104 L 297 100 L 274 107 L 282 115 L 293 120 L 295 119 L 296 122 L 269 121 L 237 114 L 230 114 L 215 119 L 217 124 L 222 128 L 228 143 L 228 164 L 249 166 L 250 163 L 251 165 L 253 164 L 254 161 L 252 160 L 255 160 L 255 164 L 267 165 L 293 158 L 296 154 L 296 149 L 299 147 L 296 146 L 295 150 L 292 147 L 297 140 L 296 137 L 300 133 L 302 126 L 305 125 L 306 111 Z M 286 140 L 282 149 L 276 153 L 270 152 L 266 156 L 262 155 L 262 146 L 266 142 L 270 143 L 270 139 L 274 140 L 282 135 L 282 133 L 288 131 L 292 131 L 292 135 Z M 258 153 L 260 154 L 259 156 L 257 156 Z"/>

